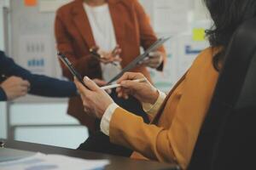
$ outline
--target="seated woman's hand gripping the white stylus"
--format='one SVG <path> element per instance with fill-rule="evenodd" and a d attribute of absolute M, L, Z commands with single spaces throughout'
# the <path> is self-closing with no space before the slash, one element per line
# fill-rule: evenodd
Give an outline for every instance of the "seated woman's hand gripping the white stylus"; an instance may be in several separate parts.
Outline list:
<path fill-rule="evenodd" d="M 142 78 L 145 78 L 142 73 L 125 72 L 117 81 L 121 84 L 121 88 L 116 89 L 119 98 L 128 99 L 128 96 L 132 95 L 142 103 L 153 105 L 159 97 L 158 90 L 148 80 L 146 82 L 132 81 Z"/>

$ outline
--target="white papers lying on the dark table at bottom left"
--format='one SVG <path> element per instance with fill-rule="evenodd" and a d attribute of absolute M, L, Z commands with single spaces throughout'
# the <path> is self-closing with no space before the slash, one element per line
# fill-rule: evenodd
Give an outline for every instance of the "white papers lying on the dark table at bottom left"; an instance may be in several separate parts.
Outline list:
<path fill-rule="evenodd" d="M 17 161 L 0 163 L 1 170 L 93 170 L 105 167 L 108 160 L 84 160 L 61 155 L 45 155 L 37 153 Z"/>

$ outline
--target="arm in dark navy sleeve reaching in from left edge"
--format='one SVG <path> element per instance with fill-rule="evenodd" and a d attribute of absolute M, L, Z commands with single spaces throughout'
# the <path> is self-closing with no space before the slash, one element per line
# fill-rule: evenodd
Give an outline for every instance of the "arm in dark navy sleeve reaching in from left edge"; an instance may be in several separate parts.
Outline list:
<path fill-rule="evenodd" d="M 46 97 L 71 97 L 77 94 L 73 82 L 61 81 L 52 77 L 32 74 L 30 71 L 16 65 L 13 59 L 4 56 L 1 61 L 5 65 L 6 76 L 21 77 L 31 83 L 29 94 Z"/>

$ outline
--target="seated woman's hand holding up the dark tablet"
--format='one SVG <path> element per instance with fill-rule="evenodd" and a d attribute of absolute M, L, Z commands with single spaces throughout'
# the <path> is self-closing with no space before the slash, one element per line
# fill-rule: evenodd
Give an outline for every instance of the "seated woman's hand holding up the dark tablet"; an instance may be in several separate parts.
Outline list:
<path fill-rule="evenodd" d="M 91 116 L 102 118 L 108 106 L 113 103 L 113 99 L 104 90 L 99 88 L 96 82 L 90 80 L 89 77 L 84 77 L 84 84 L 87 88 L 76 78 L 74 82 L 83 100 L 84 111 Z"/>

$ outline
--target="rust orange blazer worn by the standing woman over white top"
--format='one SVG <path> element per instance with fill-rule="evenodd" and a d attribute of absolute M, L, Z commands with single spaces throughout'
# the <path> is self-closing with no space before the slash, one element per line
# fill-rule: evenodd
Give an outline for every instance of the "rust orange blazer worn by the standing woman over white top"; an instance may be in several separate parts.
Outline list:
<path fill-rule="evenodd" d="M 156 37 L 149 24 L 143 7 L 137 0 L 108 0 L 110 14 L 117 43 L 122 48 L 121 65 L 124 67 L 140 54 L 140 47 L 148 48 Z M 82 76 L 102 78 L 101 67 L 97 60 L 90 57 L 89 49 L 96 46 L 90 23 L 84 11 L 83 0 L 75 0 L 57 10 L 55 17 L 55 39 L 57 49 L 66 54 Z M 164 48 L 160 48 L 165 52 Z M 61 63 L 63 75 L 70 80 L 73 76 Z M 159 70 L 162 69 L 160 66 Z M 134 71 L 142 72 L 150 79 L 148 70 L 144 66 Z M 69 100 L 68 111 L 79 121 L 94 128 L 94 118 L 84 113 L 82 101 L 79 97 Z"/>

